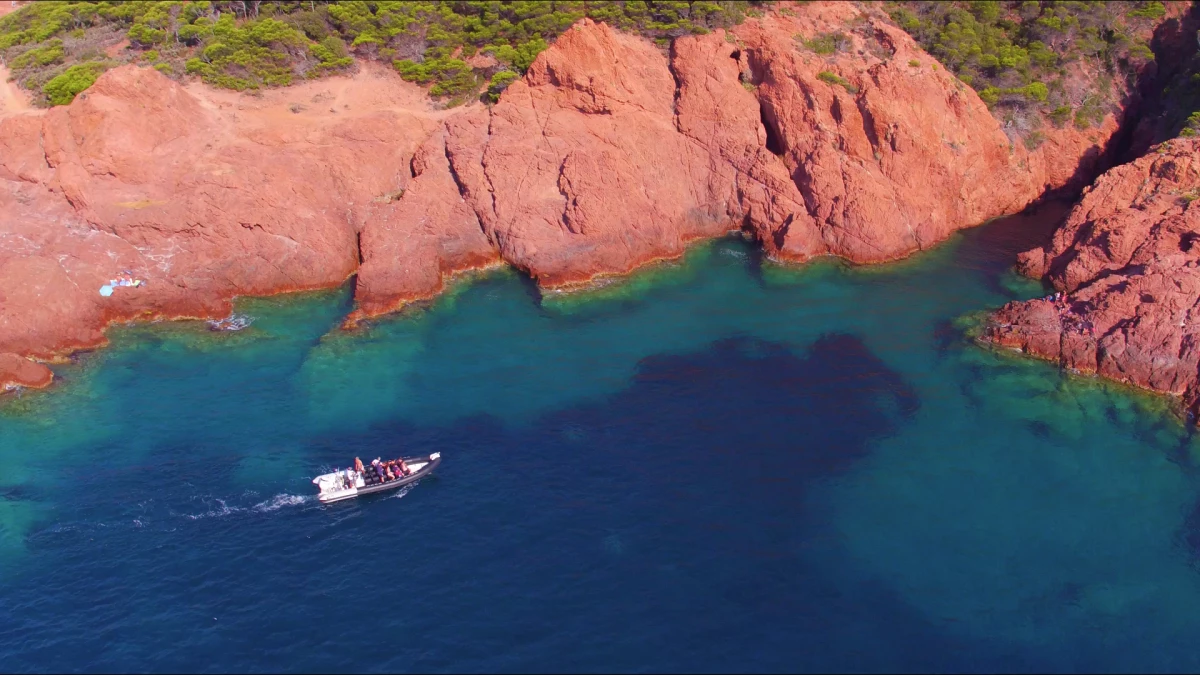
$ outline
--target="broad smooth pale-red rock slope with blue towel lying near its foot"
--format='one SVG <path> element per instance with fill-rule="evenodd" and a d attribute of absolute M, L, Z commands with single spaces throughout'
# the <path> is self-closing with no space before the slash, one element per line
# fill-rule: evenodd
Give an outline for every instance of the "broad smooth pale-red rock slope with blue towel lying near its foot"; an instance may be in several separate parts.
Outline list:
<path fill-rule="evenodd" d="M 341 283 L 439 114 L 386 72 L 253 98 L 131 66 L 0 119 L 0 351 L 53 359 L 102 345 L 112 321 Z M 124 270 L 148 283 L 101 297 Z"/>

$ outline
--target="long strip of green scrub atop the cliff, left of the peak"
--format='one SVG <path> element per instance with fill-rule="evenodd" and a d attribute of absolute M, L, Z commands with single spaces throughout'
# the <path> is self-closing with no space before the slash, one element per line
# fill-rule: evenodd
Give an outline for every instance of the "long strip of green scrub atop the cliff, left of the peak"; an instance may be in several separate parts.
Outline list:
<path fill-rule="evenodd" d="M 547 43 L 583 17 L 672 38 L 739 23 L 733 1 L 42 1 L 0 18 L 0 56 L 43 104 L 68 103 L 127 60 L 247 90 L 392 64 L 433 96 L 496 100 Z M 128 40 L 128 49 L 121 42 Z M 482 58 L 476 58 L 482 56 Z"/>

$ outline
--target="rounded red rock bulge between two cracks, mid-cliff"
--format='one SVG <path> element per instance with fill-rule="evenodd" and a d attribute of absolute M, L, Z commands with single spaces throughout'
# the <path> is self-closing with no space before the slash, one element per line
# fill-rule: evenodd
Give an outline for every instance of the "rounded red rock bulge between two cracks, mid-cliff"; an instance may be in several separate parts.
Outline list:
<path fill-rule="evenodd" d="M 450 159 L 504 259 L 560 286 L 674 257 L 738 222 L 674 125 L 649 42 L 584 20 L 491 109 L 449 126 Z"/>

